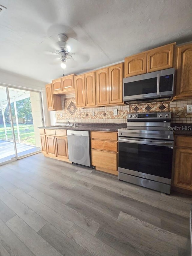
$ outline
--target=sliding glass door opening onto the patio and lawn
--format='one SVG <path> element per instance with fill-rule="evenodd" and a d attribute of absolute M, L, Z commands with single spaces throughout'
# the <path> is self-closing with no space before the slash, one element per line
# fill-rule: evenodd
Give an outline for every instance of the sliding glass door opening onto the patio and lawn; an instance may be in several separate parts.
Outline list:
<path fill-rule="evenodd" d="M 41 152 L 42 125 L 41 92 L 0 86 L 0 164 Z"/>

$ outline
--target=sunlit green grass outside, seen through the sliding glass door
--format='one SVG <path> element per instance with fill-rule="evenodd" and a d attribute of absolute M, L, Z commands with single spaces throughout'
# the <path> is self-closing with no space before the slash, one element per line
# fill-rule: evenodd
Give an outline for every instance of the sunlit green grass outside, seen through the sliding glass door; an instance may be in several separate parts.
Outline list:
<path fill-rule="evenodd" d="M 14 126 L 16 142 L 19 142 L 16 124 L 13 126 Z M 6 123 L 6 129 L 7 129 L 8 140 L 13 141 L 11 125 Z M 21 143 L 35 146 L 36 142 L 35 142 L 35 133 L 34 133 L 33 125 L 19 124 L 19 134 L 20 134 Z M 0 124 L 0 140 L 6 140 L 3 124 Z"/>

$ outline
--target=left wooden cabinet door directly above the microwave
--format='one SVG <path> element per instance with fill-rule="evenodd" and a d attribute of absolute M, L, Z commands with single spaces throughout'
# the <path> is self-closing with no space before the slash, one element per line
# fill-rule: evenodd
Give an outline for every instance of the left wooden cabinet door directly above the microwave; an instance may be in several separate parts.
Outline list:
<path fill-rule="evenodd" d="M 125 77 L 147 73 L 147 53 L 139 53 L 125 58 Z"/>

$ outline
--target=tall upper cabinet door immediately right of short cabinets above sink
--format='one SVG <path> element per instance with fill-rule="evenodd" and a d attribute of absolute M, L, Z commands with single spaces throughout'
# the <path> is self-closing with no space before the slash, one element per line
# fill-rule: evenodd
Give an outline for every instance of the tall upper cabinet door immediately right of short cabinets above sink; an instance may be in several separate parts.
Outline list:
<path fill-rule="evenodd" d="M 85 107 L 84 75 L 75 76 L 76 107 Z"/>

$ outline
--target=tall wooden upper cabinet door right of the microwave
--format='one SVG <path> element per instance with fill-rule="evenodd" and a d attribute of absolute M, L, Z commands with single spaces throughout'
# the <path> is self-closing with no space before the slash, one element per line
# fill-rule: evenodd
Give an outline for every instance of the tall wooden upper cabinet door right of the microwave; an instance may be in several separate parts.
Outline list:
<path fill-rule="evenodd" d="M 176 98 L 192 96 L 192 44 L 176 48 Z"/>

